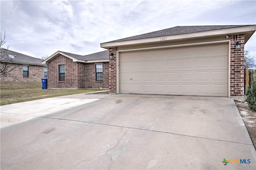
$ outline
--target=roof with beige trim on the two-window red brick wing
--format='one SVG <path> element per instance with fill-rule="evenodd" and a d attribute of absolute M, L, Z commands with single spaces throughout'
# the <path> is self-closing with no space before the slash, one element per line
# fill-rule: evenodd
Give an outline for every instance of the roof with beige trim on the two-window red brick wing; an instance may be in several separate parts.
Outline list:
<path fill-rule="evenodd" d="M 102 52 L 96 52 L 93 54 L 88 55 L 77 55 L 72 54 L 69 52 L 63 52 L 63 51 L 57 51 L 56 53 L 52 54 L 50 57 L 48 57 L 46 60 L 44 60 L 42 63 L 46 64 L 46 62 L 56 58 L 59 54 L 66 56 L 73 60 L 73 62 L 85 62 L 85 63 L 91 63 L 91 62 L 108 62 L 109 59 L 109 53 L 108 50 L 102 51 Z"/>

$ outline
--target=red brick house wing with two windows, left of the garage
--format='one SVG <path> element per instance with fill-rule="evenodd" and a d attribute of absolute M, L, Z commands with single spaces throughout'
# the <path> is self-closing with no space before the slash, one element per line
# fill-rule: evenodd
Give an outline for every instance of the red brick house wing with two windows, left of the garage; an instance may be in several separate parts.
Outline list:
<path fill-rule="evenodd" d="M 85 56 L 58 51 L 48 66 L 48 88 L 108 88 L 108 50 Z"/>

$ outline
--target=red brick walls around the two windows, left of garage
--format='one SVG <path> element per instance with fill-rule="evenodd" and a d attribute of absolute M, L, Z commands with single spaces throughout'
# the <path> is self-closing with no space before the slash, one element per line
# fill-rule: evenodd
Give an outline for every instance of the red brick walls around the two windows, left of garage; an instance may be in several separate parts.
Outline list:
<path fill-rule="evenodd" d="M 59 65 L 65 65 L 65 81 L 59 81 Z M 108 62 L 103 62 L 103 80 L 96 81 L 94 63 L 73 62 L 59 55 L 47 63 L 48 88 L 108 88 Z"/>

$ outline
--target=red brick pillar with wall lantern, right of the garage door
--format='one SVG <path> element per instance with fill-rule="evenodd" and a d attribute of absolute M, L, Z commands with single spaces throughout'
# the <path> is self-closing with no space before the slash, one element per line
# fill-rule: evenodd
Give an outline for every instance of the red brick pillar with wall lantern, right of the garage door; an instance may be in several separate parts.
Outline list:
<path fill-rule="evenodd" d="M 230 96 L 244 95 L 244 34 L 230 35 Z M 241 44 L 236 49 L 236 42 Z"/>

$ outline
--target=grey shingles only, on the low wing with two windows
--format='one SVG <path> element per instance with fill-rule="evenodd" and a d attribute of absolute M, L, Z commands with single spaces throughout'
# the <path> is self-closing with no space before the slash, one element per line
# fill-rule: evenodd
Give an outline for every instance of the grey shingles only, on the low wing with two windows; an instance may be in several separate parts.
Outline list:
<path fill-rule="evenodd" d="M 62 51 L 63 52 L 63 51 Z M 90 60 L 108 60 L 108 50 L 101 51 L 101 52 L 96 52 L 93 54 L 88 54 L 88 55 L 77 55 L 77 54 L 72 54 L 69 52 L 63 52 L 64 54 L 67 54 L 68 56 L 71 56 L 73 58 L 76 58 L 78 60 L 84 60 L 84 61 L 90 61 Z"/>

